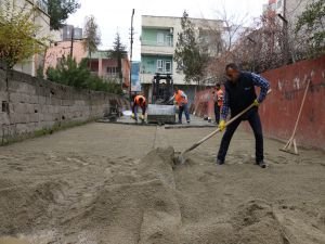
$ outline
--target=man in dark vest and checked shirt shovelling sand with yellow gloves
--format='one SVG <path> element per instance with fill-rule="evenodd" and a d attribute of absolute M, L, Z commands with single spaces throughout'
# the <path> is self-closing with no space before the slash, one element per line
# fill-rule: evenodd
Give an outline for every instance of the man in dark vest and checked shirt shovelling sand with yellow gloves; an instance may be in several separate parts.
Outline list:
<path fill-rule="evenodd" d="M 224 84 L 225 91 L 221 108 L 221 120 L 219 123 L 220 130 L 225 128 L 229 108 L 231 110 L 231 117 L 234 117 L 252 103 L 255 106 L 226 127 L 217 155 L 217 164 L 224 164 L 225 155 L 235 130 L 242 120 L 248 120 L 256 139 L 256 164 L 265 168 L 263 133 L 258 106 L 266 97 L 270 89 L 269 81 L 257 74 L 239 70 L 234 63 L 225 66 L 225 73 L 227 80 Z M 255 87 L 260 87 L 259 97 L 256 94 Z"/>

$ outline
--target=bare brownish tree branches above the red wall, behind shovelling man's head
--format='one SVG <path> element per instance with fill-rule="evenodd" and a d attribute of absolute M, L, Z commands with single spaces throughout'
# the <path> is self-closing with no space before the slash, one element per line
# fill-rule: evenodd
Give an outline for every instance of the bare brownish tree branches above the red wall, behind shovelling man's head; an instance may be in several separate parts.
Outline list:
<path fill-rule="evenodd" d="M 234 37 L 234 35 L 233 35 Z M 231 47 L 210 65 L 217 77 L 222 79 L 224 65 L 238 63 L 243 69 L 260 73 L 287 63 L 288 43 L 283 23 L 273 12 L 266 12 L 248 28 L 242 28 Z"/>

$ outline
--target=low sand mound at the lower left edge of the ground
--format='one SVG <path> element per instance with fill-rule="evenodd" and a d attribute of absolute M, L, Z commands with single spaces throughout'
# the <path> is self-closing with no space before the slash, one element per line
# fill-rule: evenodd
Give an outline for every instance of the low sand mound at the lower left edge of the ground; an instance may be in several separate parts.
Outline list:
<path fill-rule="evenodd" d="M 0 180 L 0 235 L 16 234 L 51 219 L 51 204 L 62 194 L 62 184 L 43 182 L 36 185 Z"/>

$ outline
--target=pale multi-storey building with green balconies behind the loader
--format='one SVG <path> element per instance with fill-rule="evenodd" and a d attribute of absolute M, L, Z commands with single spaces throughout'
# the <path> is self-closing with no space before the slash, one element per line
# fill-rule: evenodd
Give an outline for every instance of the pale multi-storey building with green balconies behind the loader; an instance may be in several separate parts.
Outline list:
<path fill-rule="evenodd" d="M 222 33 L 221 21 L 200 18 L 190 18 L 190 21 L 194 24 L 200 40 L 211 41 L 216 33 Z M 156 73 L 170 74 L 173 85 L 187 93 L 190 102 L 194 99 L 196 84 L 185 84 L 184 74 L 173 60 L 178 34 L 181 31 L 181 17 L 142 16 L 140 81 L 148 101 L 151 101 L 152 82 Z M 210 54 L 218 54 L 217 46 L 208 47 Z"/>

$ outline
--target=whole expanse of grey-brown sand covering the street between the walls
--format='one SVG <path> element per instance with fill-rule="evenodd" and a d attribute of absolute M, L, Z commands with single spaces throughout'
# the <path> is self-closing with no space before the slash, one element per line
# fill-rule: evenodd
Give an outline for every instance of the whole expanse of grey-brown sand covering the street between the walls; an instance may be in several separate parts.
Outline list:
<path fill-rule="evenodd" d="M 325 243 L 323 152 L 265 139 L 261 169 L 239 130 L 225 165 L 221 134 L 174 165 L 211 131 L 89 124 L 0 147 L 0 244 Z"/>

